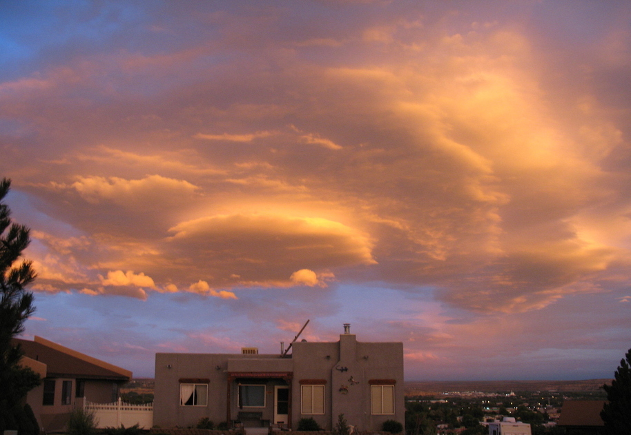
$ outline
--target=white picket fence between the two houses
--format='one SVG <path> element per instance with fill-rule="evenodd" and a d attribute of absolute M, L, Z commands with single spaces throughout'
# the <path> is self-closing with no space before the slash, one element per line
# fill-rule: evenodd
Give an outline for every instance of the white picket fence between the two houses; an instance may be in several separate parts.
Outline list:
<path fill-rule="evenodd" d="M 112 403 L 95 403 L 85 400 L 84 409 L 95 413 L 97 427 L 130 427 L 138 425 L 144 429 L 151 429 L 153 426 L 153 402 L 143 405 L 126 403 L 118 398 Z"/>

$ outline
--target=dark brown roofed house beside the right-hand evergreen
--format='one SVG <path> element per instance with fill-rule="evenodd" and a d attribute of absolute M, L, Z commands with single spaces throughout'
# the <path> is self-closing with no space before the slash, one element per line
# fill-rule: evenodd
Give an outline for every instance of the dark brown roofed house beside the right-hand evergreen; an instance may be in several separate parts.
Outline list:
<path fill-rule="evenodd" d="M 603 434 L 605 423 L 601 411 L 605 401 L 565 401 L 561 407 L 559 427 L 565 428 L 565 434 Z"/>

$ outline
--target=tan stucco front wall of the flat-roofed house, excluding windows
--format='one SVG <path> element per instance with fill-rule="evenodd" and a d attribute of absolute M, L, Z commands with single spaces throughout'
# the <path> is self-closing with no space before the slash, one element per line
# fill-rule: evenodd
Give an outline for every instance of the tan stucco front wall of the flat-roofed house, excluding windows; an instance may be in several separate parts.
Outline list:
<path fill-rule="evenodd" d="M 342 371 L 342 369 L 345 369 Z M 313 418 L 331 430 L 344 414 L 358 430 L 380 430 L 386 420 L 405 424 L 402 343 L 360 343 L 353 334 L 340 335 L 334 343 L 293 343 L 291 358 L 243 354 L 156 354 L 154 424 L 159 427 L 195 426 L 201 418 L 226 421 L 228 373 L 293 372 L 291 427 L 300 418 Z M 208 405 L 179 405 L 179 379 L 208 379 Z M 371 381 L 394 384 L 394 414 L 371 414 Z M 302 383 L 324 383 L 324 414 L 302 414 Z M 266 402 L 261 408 L 239 409 L 238 383 L 264 383 Z M 240 411 L 262 412 L 273 423 L 274 386 L 287 385 L 282 378 L 237 378 L 230 385 L 231 419 Z"/>

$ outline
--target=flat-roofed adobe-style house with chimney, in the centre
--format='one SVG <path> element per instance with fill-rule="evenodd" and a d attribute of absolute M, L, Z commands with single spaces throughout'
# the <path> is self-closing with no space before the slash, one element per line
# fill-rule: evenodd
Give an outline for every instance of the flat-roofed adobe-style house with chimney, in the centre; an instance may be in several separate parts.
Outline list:
<path fill-rule="evenodd" d="M 344 325 L 340 341 L 293 343 L 293 352 L 156 354 L 153 423 L 298 426 L 313 418 L 333 429 L 338 415 L 358 430 L 405 422 L 402 343 L 362 343 Z"/>

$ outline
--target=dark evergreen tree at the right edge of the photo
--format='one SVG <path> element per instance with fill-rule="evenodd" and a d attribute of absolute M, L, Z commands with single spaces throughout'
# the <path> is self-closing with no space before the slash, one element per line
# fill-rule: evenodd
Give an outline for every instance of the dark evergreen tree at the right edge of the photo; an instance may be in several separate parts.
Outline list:
<path fill-rule="evenodd" d="M 625 361 L 626 360 L 626 361 Z M 605 433 L 631 435 L 631 349 L 621 359 L 611 385 L 603 385 L 607 400 L 601 418 L 605 422 Z"/>

